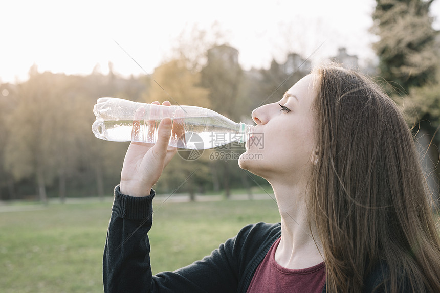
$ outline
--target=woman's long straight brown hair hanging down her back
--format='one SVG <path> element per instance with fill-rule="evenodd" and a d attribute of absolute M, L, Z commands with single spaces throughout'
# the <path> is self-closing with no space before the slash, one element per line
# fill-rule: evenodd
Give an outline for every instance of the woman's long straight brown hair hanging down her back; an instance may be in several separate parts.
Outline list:
<path fill-rule="evenodd" d="M 329 292 L 361 292 L 378 267 L 387 291 L 440 292 L 440 240 L 411 132 L 369 78 L 317 67 L 310 222 Z"/>

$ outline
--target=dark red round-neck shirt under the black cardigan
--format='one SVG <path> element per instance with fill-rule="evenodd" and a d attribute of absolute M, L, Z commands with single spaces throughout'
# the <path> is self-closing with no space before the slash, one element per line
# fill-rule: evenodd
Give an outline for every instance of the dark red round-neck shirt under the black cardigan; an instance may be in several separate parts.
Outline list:
<path fill-rule="evenodd" d="M 281 238 L 270 248 L 258 265 L 247 293 L 321 293 L 325 284 L 324 262 L 303 269 L 288 269 L 275 261 L 275 251 Z"/>

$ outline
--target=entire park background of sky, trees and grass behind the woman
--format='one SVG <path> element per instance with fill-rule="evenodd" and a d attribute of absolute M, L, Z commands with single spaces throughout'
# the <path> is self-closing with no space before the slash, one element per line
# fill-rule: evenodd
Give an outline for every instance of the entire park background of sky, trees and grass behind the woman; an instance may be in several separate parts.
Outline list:
<path fill-rule="evenodd" d="M 99 97 L 169 100 L 252 123 L 254 108 L 278 101 L 313 65 L 338 61 L 402 108 L 436 205 L 438 0 L 16 1 L 2 13 L 0 287 L 8 292 L 102 290 L 128 143 L 94 137 Z M 209 254 L 247 223 L 278 220 L 268 183 L 229 159 L 243 151 L 176 156 L 166 168 L 155 186 L 158 271 Z"/>

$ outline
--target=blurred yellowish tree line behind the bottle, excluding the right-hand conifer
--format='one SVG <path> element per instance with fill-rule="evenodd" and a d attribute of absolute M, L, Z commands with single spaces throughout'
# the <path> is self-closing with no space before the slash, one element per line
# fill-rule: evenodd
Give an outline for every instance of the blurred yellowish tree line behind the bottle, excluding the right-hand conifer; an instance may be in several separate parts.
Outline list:
<path fill-rule="evenodd" d="M 138 102 L 169 100 L 172 104 L 209 107 L 234 121 L 252 123 L 251 111 L 280 99 L 310 68 L 292 74 L 272 62 L 269 70 L 244 71 L 238 51 L 227 45 L 212 46 L 202 56 L 188 57 L 180 48 L 154 73 L 122 78 L 109 64 L 109 73 L 97 66 L 87 76 L 38 72 L 33 65 L 29 79 L 0 85 L 0 199 L 111 195 L 119 183 L 128 143 L 95 138 L 92 112 L 99 97 Z M 193 53 L 193 52 L 192 52 Z M 298 56 L 299 57 L 299 56 Z M 202 60 L 202 61 L 200 61 Z M 159 86 L 160 85 L 160 86 Z M 212 160 L 222 151 L 230 156 Z M 268 186 L 238 167 L 232 153 L 244 145 L 205 150 L 193 161 L 179 155 L 155 186 L 159 193 L 216 192 L 229 196 L 233 188 L 248 194 Z M 262 190 L 257 192 L 263 192 Z"/>

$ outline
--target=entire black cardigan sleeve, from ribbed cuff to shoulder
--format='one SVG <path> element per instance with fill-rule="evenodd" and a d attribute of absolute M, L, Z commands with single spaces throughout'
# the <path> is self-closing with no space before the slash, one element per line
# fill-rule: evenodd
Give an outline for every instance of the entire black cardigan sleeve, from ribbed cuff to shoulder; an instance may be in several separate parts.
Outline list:
<path fill-rule="evenodd" d="M 103 257 L 105 292 L 234 292 L 238 286 L 239 235 L 210 256 L 175 272 L 152 276 L 148 231 L 152 225 L 154 191 L 130 197 L 115 189 L 112 217 Z M 243 234 L 243 233 L 242 233 Z M 188 235 L 196 237 L 196 235 Z"/>

